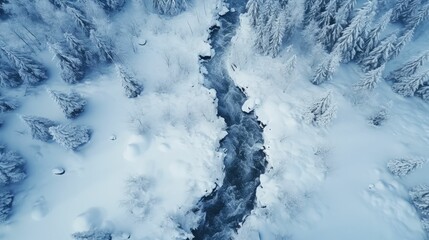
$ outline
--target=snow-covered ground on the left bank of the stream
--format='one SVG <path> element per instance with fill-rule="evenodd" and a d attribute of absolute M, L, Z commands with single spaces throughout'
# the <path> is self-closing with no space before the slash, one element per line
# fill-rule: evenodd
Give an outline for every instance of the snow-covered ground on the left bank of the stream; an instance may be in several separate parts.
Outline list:
<path fill-rule="evenodd" d="M 0 138 L 27 160 L 28 178 L 17 190 L 13 216 L 0 226 L 1 239 L 65 240 L 90 228 L 131 233 L 132 239 L 173 239 L 184 234 L 178 224 L 189 232 L 186 224 L 194 223 L 182 216 L 223 174 L 217 148 L 224 122 L 216 115 L 214 92 L 202 86 L 198 62 L 210 48 L 205 40 L 216 7 L 216 1 L 196 1 L 179 16 L 160 17 L 136 1 L 115 16 L 109 27 L 126 56 L 123 65 L 144 85 L 136 99 L 126 98 L 114 66 L 70 86 L 60 80 L 50 53 L 42 53 L 53 72 L 48 81 L 7 93 L 21 103 L 5 116 Z M 70 88 L 88 101 L 76 120 L 66 119 L 47 92 Z M 21 115 L 89 126 L 91 141 L 73 152 L 33 140 Z M 57 167 L 65 174 L 54 175 Z M 125 203 L 136 191 L 127 186 L 131 177 L 148 183 L 134 186 L 143 191 L 138 209 Z"/>

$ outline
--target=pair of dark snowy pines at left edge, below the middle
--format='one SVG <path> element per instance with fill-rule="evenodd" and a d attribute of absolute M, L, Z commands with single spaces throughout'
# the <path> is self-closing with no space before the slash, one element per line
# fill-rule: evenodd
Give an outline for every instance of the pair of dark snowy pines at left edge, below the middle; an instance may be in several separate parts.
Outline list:
<path fill-rule="evenodd" d="M 11 186 L 25 177 L 25 161 L 21 155 L 0 145 L 0 223 L 7 221 L 12 213 L 14 195 Z"/>

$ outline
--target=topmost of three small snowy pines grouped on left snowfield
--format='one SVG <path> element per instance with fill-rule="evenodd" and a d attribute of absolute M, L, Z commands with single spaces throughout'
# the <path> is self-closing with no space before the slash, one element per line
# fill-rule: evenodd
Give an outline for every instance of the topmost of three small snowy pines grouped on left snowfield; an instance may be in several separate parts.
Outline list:
<path fill-rule="evenodd" d="M 84 112 L 86 100 L 77 92 L 69 94 L 49 90 L 49 94 L 54 101 L 60 106 L 67 118 L 73 119 Z"/>

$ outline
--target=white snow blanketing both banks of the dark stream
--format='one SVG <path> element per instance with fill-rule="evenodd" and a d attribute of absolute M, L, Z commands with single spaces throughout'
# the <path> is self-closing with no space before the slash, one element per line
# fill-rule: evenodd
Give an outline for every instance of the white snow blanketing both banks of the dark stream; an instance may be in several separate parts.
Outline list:
<path fill-rule="evenodd" d="M 218 116 L 216 91 L 203 85 L 203 73 L 210 73 L 201 67 L 199 56 L 216 54 L 208 39 L 210 30 L 219 24 L 217 17 L 236 10 L 225 3 L 234 0 L 76 1 L 87 4 L 82 12 L 62 5 L 67 2 L 63 0 L 37 0 L 35 9 L 26 9 L 26 1 L 9 0 L 13 6 L 9 10 L 22 14 L 11 21 L 2 17 L 5 1 L 0 0 L 0 64 L 4 64 L 0 65 L 0 80 L 8 61 L 3 47 L 31 53 L 48 69 L 49 78 L 36 86 L 24 83 L 0 88 L 0 100 L 19 102 L 13 111 L 3 110 L 0 104 L 0 120 L 4 120 L 0 144 L 25 159 L 27 173 L 20 183 L 3 184 L 6 177 L 0 162 L 0 194 L 10 190 L 15 196 L 12 212 L 2 222 L 5 203 L 1 201 L 6 200 L 0 195 L 0 240 L 193 239 L 192 230 L 205 217 L 198 215 L 201 209 L 196 207 L 202 197 L 222 185 L 223 159 L 228 154 L 220 149 L 228 126 Z M 256 5 L 274 1 L 250 0 Z M 104 13 L 97 4 L 107 2 L 126 4 L 116 13 Z M 188 4 L 173 9 L 177 12 L 162 12 L 166 10 L 161 5 L 171 2 Z M 276 1 L 272 6 L 286 2 L 296 13 L 288 16 L 293 22 L 303 18 L 304 2 L 334 0 Z M 343 2 L 349 1 L 335 3 Z M 358 1 L 353 11 L 364 2 Z M 376 19 L 396 2 L 425 4 L 416 9 L 429 16 L 425 0 L 377 2 Z M 41 9 L 46 11 L 40 18 L 49 24 L 56 24 L 66 11 L 74 16 L 93 14 L 88 17 L 91 23 L 78 21 L 79 26 L 88 25 L 82 35 L 94 38 L 92 34 L 98 31 L 109 36 L 115 54 L 104 52 L 107 59 L 91 65 L 82 80 L 74 84 L 62 81 L 58 56 L 52 53 L 55 46 L 49 50 L 47 43 L 70 29 L 58 23 L 61 26 L 51 32 L 32 22 L 32 11 Z M 395 93 L 392 83 L 384 79 L 372 90 L 359 89 L 364 72 L 355 62 L 339 64 L 332 79 L 312 84 L 319 64 L 334 55 L 312 42 L 308 34 L 314 29 L 303 30 L 303 23 L 296 23 L 299 32 L 280 41 L 278 53 L 270 48 L 267 51 L 274 53 L 261 54 L 255 49 L 261 34 L 251 21 L 249 13 L 240 16 L 236 35 L 225 46 L 225 74 L 247 96 L 241 110 L 254 112 L 264 126 L 268 164 L 260 176 L 255 206 L 232 238 L 428 239 L 429 212 L 416 209 L 409 191 L 429 184 L 429 103 Z M 412 41 L 383 64 L 383 77 L 429 50 L 428 22 L 415 28 Z M 398 26 L 387 26 L 382 37 L 398 33 Z M 38 42 L 40 39 L 45 42 Z M 101 45 L 108 45 L 106 42 Z M 126 93 L 118 69 L 134 76 L 143 90 Z M 418 73 L 428 70 L 426 63 Z M 429 85 L 429 72 L 427 76 L 419 87 Z M 87 102 L 84 112 L 67 118 L 50 90 L 79 93 Z M 322 98 L 329 104 L 315 105 Z M 327 114 L 316 119 L 311 112 L 314 106 Z M 90 140 L 72 150 L 52 139 L 34 139 L 24 116 L 88 127 Z M 260 149 L 260 145 L 249 147 Z M 0 145 L 0 160 L 3 150 Z M 400 164 L 407 163 L 414 165 L 401 168 Z M 425 199 L 429 204 L 427 196 Z M 429 207 L 422 208 L 425 206 Z M 426 226 L 422 216 L 427 218 Z M 98 236 L 73 237 L 94 230 Z"/>

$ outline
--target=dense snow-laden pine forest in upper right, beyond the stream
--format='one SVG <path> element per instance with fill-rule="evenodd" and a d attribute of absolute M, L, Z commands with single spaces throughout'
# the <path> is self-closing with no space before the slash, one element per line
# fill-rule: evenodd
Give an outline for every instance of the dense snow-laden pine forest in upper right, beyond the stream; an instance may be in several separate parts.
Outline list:
<path fill-rule="evenodd" d="M 365 72 L 357 87 L 372 90 L 382 79 L 385 64 L 399 55 L 428 18 L 429 3 L 399 0 L 384 14 L 377 12 L 374 0 L 368 0 L 357 10 L 355 6 L 355 0 L 306 0 L 303 6 L 293 0 L 250 0 L 247 14 L 255 30 L 255 48 L 275 57 L 294 29 L 306 29 L 303 32 L 311 36 L 304 37 L 313 39 L 314 44 L 322 45 L 327 52 L 310 79 L 313 84 L 330 80 L 340 63 L 354 61 Z M 400 24 L 402 28 L 389 34 L 385 32 L 389 23 Z M 407 67 L 419 64 L 422 58 L 416 61 L 407 63 Z M 411 75 L 407 67 L 391 74 L 390 79 L 399 79 L 393 89 L 404 96 L 418 95 L 428 100 L 429 72 Z"/>

